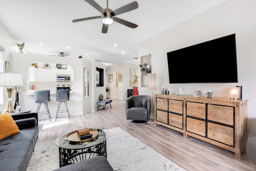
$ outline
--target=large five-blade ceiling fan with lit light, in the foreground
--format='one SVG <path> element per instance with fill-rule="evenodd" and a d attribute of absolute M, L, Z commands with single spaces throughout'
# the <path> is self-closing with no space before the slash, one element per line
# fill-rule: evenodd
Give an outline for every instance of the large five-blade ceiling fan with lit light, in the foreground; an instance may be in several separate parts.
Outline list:
<path fill-rule="evenodd" d="M 92 19 L 96 19 L 96 18 L 101 18 L 102 22 L 103 22 L 102 33 L 107 33 L 108 32 L 108 25 L 112 24 L 114 21 L 118 22 L 120 24 L 123 24 L 124 26 L 128 26 L 130 28 L 138 27 L 138 25 L 136 25 L 134 23 L 131 23 L 131 22 L 128 22 L 128 21 L 123 20 L 121 18 L 115 17 L 116 15 L 123 14 L 125 12 L 129 12 L 131 10 L 137 9 L 138 8 L 138 2 L 137 1 L 131 2 L 130 4 L 126 4 L 125 6 L 122 6 L 122 7 L 118 8 L 114 11 L 108 8 L 108 0 L 107 0 L 107 8 L 105 8 L 105 9 L 101 8 L 94 0 L 85 0 L 85 1 L 88 2 L 88 4 L 90 4 L 91 6 L 93 6 L 96 10 L 101 12 L 101 16 L 79 18 L 79 19 L 76 19 L 76 20 L 72 20 L 72 22 L 80 22 L 80 21 L 85 21 L 85 20 L 92 20 Z"/>

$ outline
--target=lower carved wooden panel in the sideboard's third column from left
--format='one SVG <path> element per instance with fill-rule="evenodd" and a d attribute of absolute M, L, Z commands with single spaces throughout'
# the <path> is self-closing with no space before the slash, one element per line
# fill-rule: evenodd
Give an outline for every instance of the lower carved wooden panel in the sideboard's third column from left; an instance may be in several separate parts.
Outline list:
<path fill-rule="evenodd" d="M 205 121 L 187 117 L 186 130 L 205 137 Z"/>

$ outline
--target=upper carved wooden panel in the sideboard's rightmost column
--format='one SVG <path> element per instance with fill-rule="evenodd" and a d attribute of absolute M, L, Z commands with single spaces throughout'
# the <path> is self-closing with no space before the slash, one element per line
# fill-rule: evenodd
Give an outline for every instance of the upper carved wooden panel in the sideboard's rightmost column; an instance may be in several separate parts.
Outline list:
<path fill-rule="evenodd" d="M 208 105 L 208 120 L 234 125 L 234 108 L 220 105 Z"/>

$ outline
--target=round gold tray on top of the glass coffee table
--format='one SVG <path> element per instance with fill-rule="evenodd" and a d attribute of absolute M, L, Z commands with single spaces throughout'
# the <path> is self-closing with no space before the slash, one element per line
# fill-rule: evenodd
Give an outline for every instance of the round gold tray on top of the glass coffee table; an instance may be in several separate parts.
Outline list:
<path fill-rule="evenodd" d="M 73 132 L 70 132 L 66 139 L 68 140 L 69 143 L 83 143 L 83 142 L 86 142 L 86 141 L 94 141 L 95 139 L 98 138 L 98 134 L 99 132 L 96 130 L 96 129 L 90 129 L 90 134 L 92 134 L 92 137 L 90 138 L 86 138 L 86 139 L 80 139 L 78 137 L 78 131 L 73 131 Z"/>

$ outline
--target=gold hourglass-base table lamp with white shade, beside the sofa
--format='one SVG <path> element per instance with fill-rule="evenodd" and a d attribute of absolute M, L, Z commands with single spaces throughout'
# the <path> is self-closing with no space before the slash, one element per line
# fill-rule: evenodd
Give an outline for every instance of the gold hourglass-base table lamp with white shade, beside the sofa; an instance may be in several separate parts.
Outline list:
<path fill-rule="evenodd" d="M 12 107 L 12 91 L 15 86 L 23 85 L 22 74 L 16 73 L 0 73 L 0 87 L 4 87 L 7 93 L 7 105 L 4 111 L 14 113 L 15 109 Z"/>

